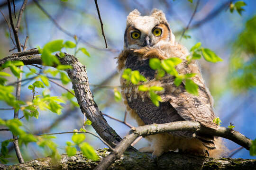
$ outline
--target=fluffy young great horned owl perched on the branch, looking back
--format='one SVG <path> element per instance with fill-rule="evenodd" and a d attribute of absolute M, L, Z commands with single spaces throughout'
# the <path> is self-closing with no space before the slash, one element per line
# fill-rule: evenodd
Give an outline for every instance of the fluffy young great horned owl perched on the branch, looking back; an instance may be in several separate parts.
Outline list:
<path fill-rule="evenodd" d="M 213 102 L 210 92 L 205 86 L 198 64 L 188 64 L 188 50 L 175 42 L 175 36 L 161 10 L 154 9 L 150 16 L 141 16 L 135 9 L 127 17 L 124 34 L 124 50 L 118 57 L 118 69 L 138 70 L 147 79 L 147 85 L 157 85 L 165 90 L 158 94 L 162 98 L 159 107 L 155 106 L 148 93 L 138 91 L 137 85 L 127 85 L 121 77 L 122 96 L 129 114 L 136 119 L 139 126 L 153 123 L 167 123 L 181 120 L 198 121 L 201 125 L 216 128 Z M 174 85 L 174 76 L 166 75 L 158 80 L 156 71 L 149 67 L 150 58 L 168 59 L 177 57 L 183 60 L 176 66 L 178 73 L 196 73 L 192 80 L 199 86 L 198 96 L 188 93 L 183 82 Z M 160 156 L 169 150 L 179 150 L 196 155 L 218 157 L 223 149 L 220 139 L 205 134 L 192 132 L 172 132 L 146 137 L 152 144 L 141 148 L 141 152 L 150 152 Z"/>

